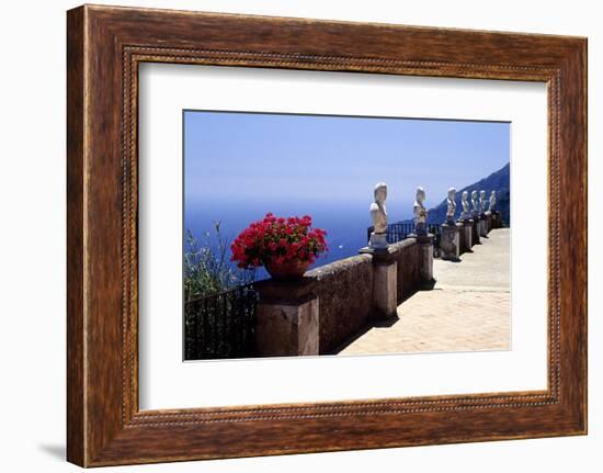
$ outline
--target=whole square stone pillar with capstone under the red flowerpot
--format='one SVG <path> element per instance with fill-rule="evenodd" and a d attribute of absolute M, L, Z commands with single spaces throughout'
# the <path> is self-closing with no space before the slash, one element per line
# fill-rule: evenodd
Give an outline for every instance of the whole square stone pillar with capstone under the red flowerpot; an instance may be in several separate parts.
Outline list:
<path fill-rule="evenodd" d="M 319 301 L 314 278 L 266 280 L 254 284 L 260 294 L 255 346 L 263 357 L 319 354 Z"/>

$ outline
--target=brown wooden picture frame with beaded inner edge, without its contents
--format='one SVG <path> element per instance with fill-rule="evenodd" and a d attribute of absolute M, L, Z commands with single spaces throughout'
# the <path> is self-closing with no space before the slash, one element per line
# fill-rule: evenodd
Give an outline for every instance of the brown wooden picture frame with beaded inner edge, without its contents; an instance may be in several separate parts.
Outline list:
<path fill-rule="evenodd" d="M 69 461 L 96 466 L 587 432 L 585 38 L 89 5 L 67 18 Z M 141 61 L 546 82 L 548 390 L 140 412 Z"/>

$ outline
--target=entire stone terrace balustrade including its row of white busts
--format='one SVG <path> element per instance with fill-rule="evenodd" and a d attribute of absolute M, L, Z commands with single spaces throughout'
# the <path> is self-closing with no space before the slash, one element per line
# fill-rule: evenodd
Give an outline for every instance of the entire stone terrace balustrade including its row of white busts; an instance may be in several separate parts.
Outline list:
<path fill-rule="evenodd" d="M 442 258 L 460 261 L 480 238 L 500 228 L 500 214 L 485 211 L 486 191 L 463 193 L 463 214 L 454 221 L 456 190 L 448 190 L 446 222 L 442 225 Z M 308 271 L 294 281 L 266 280 L 254 284 L 260 301 L 255 341 L 260 356 L 316 356 L 338 352 L 371 323 L 396 316 L 402 301 L 433 281 L 433 235 L 428 232 L 425 191 L 417 188 L 414 233 L 387 243 L 387 184 L 378 182 L 369 212 L 373 230 L 360 255 Z"/>

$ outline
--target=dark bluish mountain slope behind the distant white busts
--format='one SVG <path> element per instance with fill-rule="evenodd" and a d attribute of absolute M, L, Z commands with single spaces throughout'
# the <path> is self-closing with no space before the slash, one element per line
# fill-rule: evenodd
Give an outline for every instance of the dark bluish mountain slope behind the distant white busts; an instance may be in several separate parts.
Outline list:
<path fill-rule="evenodd" d="M 470 185 L 467 185 L 463 189 L 456 190 L 456 214 L 455 218 L 458 218 L 460 212 L 463 212 L 463 205 L 460 205 L 460 195 L 463 191 L 469 193 L 469 203 L 471 201 L 471 191 L 486 191 L 486 199 L 490 199 L 490 192 L 497 191 L 497 204 L 494 210 L 501 213 L 502 222 L 505 226 L 509 226 L 510 222 L 510 203 L 511 203 L 511 192 L 510 192 L 510 164 L 507 164 L 501 169 L 496 172 L 492 172 L 487 178 L 483 178 L 477 182 L 474 182 Z M 488 210 L 488 202 L 486 203 L 486 210 Z M 446 221 L 446 199 L 444 199 L 440 204 L 429 211 L 428 221 L 430 224 L 442 224 Z M 470 206 L 473 210 L 473 205 Z"/>

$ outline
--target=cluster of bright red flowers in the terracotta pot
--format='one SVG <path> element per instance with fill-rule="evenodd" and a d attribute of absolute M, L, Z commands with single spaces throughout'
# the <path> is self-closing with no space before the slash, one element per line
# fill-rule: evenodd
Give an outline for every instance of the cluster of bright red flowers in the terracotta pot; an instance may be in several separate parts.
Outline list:
<path fill-rule="evenodd" d="M 327 250 L 327 232 L 310 226 L 309 215 L 304 217 L 275 217 L 272 213 L 249 227 L 230 245 L 232 261 L 239 268 L 251 269 L 265 261 L 283 263 L 291 260 L 310 261 Z"/>

